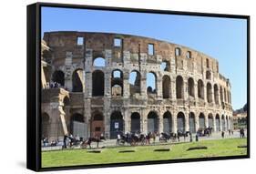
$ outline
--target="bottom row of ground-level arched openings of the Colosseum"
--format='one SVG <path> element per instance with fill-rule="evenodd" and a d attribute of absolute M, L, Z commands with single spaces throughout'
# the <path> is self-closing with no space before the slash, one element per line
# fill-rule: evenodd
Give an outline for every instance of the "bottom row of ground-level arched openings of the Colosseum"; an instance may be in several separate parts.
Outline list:
<path fill-rule="evenodd" d="M 206 119 L 207 118 L 207 119 Z M 50 136 L 50 120 L 49 115 L 47 113 L 42 114 L 42 135 L 45 137 Z M 189 119 L 189 128 L 186 129 L 186 119 Z M 197 121 L 198 119 L 198 126 Z M 129 119 L 129 130 L 130 132 L 141 132 L 143 131 L 141 126 L 141 121 L 143 120 L 140 117 L 138 112 L 133 112 L 130 115 Z M 147 117 L 147 131 L 148 132 L 159 132 L 159 115 L 155 111 L 148 112 Z M 208 120 L 208 122 L 207 122 Z M 74 133 L 75 128 L 73 127 L 73 122 L 85 123 L 86 120 L 82 114 L 75 113 L 70 117 L 68 132 L 71 134 Z M 109 138 L 117 138 L 119 132 L 124 132 L 125 120 L 120 111 L 113 111 L 110 116 L 110 132 Z M 127 123 L 128 124 L 128 123 Z M 189 117 L 186 117 L 183 112 L 179 112 L 177 117 L 166 111 L 162 116 L 162 131 L 165 133 L 170 133 L 176 131 L 174 128 L 177 128 L 177 131 L 190 131 L 192 133 L 196 133 L 198 129 L 203 128 L 214 128 L 215 131 L 227 131 L 232 128 L 232 119 L 228 116 L 222 115 L 220 117 L 219 114 L 216 114 L 214 117 L 213 114 L 209 114 L 205 116 L 203 113 L 200 113 L 198 118 L 195 116 L 193 112 L 189 113 Z M 90 136 L 96 137 L 105 133 L 105 125 L 104 125 L 104 115 L 101 112 L 95 112 L 92 114 L 92 118 L 90 120 Z M 87 131 L 87 130 L 86 130 Z"/>

